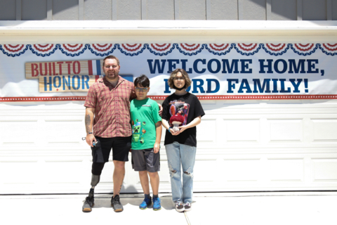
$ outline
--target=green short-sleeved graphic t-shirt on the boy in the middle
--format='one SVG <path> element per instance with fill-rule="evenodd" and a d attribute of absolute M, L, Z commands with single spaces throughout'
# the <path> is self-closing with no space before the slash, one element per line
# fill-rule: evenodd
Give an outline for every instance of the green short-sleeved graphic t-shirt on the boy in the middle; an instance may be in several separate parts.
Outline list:
<path fill-rule="evenodd" d="M 156 142 L 156 123 L 161 121 L 159 107 L 156 101 L 150 98 L 130 103 L 132 143 L 131 149 L 141 150 L 153 148 Z"/>

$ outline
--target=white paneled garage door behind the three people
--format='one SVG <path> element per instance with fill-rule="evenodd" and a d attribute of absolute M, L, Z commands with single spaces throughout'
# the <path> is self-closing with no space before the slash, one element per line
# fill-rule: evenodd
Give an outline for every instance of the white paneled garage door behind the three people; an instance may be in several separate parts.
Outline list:
<path fill-rule="evenodd" d="M 83 103 L 1 103 L 1 194 L 88 192 Z M 336 100 L 201 103 L 194 191 L 337 190 Z M 170 192 L 164 149 L 159 191 Z M 97 193 L 112 192 L 113 169 Z M 141 192 L 130 162 L 121 192 Z"/>

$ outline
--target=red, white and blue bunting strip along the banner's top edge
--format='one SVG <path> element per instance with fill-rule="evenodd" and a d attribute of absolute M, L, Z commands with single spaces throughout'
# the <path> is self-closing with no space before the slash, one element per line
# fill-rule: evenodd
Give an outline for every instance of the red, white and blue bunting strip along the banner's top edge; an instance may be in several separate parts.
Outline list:
<path fill-rule="evenodd" d="M 15 57 L 25 53 L 28 49 L 37 56 L 51 56 L 56 50 L 60 50 L 67 56 L 79 56 L 87 49 L 96 56 L 109 56 L 119 49 L 126 56 L 138 56 L 145 49 L 156 56 L 167 56 L 178 49 L 185 56 L 195 56 L 204 49 L 217 56 L 223 56 L 235 49 L 243 56 L 253 56 L 260 49 L 271 56 L 281 56 L 292 49 L 299 56 L 309 56 L 321 49 L 328 56 L 335 56 L 337 53 L 337 43 L 333 44 L 257 44 L 257 43 L 236 43 L 236 44 L 0 44 L 0 50 L 7 56 Z"/>

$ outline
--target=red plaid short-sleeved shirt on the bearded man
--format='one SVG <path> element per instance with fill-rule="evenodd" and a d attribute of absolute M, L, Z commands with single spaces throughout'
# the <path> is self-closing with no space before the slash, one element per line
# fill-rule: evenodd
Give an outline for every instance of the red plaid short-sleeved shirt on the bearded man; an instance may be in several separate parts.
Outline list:
<path fill-rule="evenodd" d="M 102 138 L 131 136 L 130 101 L 136 98 L 132 82 L 119 76 L 113 87 L 105 77 L 93 84 L 86 96 L 85 107 L 95 108 L 93 135 Z"/>

